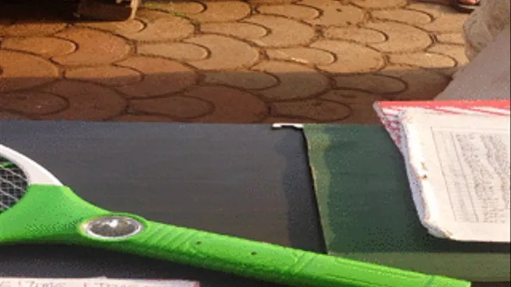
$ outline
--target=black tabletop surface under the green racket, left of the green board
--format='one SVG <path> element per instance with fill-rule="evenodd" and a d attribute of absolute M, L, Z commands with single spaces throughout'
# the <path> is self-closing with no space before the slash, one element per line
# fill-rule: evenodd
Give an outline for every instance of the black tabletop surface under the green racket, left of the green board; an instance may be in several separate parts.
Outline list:
<path fill-rule="evenodd" d="M 299 130 L 0 121 L 0 143 L 35 159 L 102 208 L 325 252 Z M 204 287 L 278 286 L 102 249 L 42 245 L 0 247 L 0 276 L 184 278 Z"/>

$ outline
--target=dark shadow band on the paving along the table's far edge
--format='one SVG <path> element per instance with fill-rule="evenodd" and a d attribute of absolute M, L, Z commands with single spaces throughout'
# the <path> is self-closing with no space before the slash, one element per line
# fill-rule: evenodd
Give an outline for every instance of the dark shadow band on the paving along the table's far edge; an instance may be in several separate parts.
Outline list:
<path fill-rule="evenodd" d="M 3 118 L 377 123 L 374 101 L 429 100 L 448 83 L 444 71 L 435 76 L 441 81 L 428 84 L 420 70 L 340 74 L 332 81 L 307 72 L 147 74 L 116 64 L 111 69 L 131 75 L 102 77 L 86 67 L 53 72 L 37 64 L 33 70 L 50 75 L 2 79 Z M 432 72 L 426 75 L 431 77 Z"/>

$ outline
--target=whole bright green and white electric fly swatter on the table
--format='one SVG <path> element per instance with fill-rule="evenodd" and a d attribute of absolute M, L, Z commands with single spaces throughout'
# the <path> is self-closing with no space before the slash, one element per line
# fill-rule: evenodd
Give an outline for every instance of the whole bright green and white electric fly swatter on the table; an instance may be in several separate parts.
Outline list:
<path fill-rule="evenodd" d="M 94 172 L 94 171 L 92 171 Z M 243 240 L 104 210 L 33 160 L 0 145 L 0 244 L 80 244 L 290 286 L 465 287 L 430 276 Z"/>

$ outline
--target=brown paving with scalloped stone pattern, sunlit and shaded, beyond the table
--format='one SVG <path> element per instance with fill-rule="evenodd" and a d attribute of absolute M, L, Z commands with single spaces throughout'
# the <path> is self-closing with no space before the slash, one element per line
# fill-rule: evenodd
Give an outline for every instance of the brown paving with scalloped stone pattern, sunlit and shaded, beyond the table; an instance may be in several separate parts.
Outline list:
<path fill-rule="evenodd" d="M 412 0 L 162 0 L 125 23 L 20 5 L 0 118 L 375 123 L 374 101 L 432 99 L 466 62 L 467 16 Z"/>

